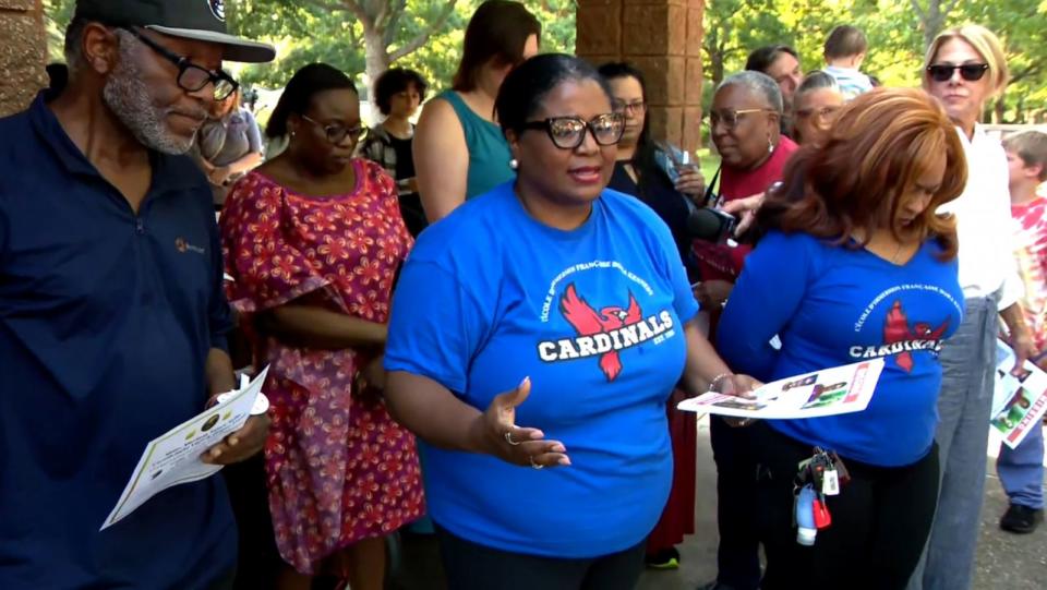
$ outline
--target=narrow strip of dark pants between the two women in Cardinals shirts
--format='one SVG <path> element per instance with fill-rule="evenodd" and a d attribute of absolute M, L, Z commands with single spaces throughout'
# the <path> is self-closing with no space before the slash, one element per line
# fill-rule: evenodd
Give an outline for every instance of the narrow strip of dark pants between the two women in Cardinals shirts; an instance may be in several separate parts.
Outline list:
<path fill-rule="evenodd" d="M 734 590 L 760 586 L 759 532 L 756 520 L 756 458 L 751 428 L 733 428 L 709 417 L 712 457 L 717 462 L 717 581 Z"/>

